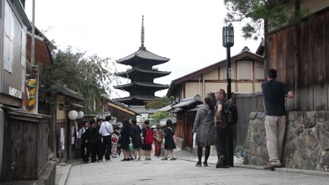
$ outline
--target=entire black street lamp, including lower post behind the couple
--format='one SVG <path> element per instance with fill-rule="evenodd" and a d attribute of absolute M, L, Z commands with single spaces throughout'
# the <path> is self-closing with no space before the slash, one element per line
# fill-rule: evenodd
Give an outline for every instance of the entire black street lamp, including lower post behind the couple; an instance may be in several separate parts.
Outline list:
<path fill-rule="evenodd" d="M 234 45 L 234 29 L 231 26 L 223 27 L 223 46 L 226 48 L 226 80 L 227 80 L 227 91 L 226 97 L 227 100 L 231 99 L 231 47 Z M 231 130 L 231 134 L 228 135 L 228 140 L 226 143 L 228 144 L 228 165 L 233 167 L 233 135 L 234 135 L 234 127 Z"/>

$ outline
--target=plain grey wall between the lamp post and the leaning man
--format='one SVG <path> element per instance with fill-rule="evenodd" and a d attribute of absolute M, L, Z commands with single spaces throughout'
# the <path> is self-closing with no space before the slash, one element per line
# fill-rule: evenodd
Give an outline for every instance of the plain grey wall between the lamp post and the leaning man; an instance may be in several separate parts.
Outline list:
<path fill-rule="evenodd" d="M 238 109 L 238 123 L 236 123 L 236 146 L 244 146 L 247 139 L 250 112 L 264 111 L 262 93 L 241 93 L 234 95 L 234 102 Z"/>

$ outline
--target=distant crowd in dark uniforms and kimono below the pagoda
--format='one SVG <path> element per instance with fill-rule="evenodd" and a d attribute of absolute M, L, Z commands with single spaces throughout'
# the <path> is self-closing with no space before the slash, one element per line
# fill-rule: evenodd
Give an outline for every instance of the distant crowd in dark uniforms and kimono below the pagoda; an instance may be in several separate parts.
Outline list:
<path fill-rule="evenodd" d="M 124 158 L 127 160 L 141 160 L 142 150 L 145 153 L 145 160 L 151 160 L 153 151 L 153 142 L 155 146 L 155 156 L 160 157 L 162 142 L 164 141 L 165 155 L 162 160 L 168 160 L 169 153 L 172 154 L 170 160 L 176 160 L 174 149 L 176 149 L 176 137 L 172 128 L 172 121 L 168 120 L 167 125 L 160 130 L 150 128 L 149 121 L 144 121 L 141 128 L 137 125 L 135 118 L 131 121 L 125 120 L 122 123 L 121 131 L 114 129 L 110 121 L 111 117 L 106 116 L 105 121 L 101 119 L 91 120 L 84 123 L 84 127 L 79 130 L 81 135 L 81 157 L 84 163 L 91 163 L 117 158 L 123 151 Z M 118 129 L 118 128 L 117 128 Z"/>

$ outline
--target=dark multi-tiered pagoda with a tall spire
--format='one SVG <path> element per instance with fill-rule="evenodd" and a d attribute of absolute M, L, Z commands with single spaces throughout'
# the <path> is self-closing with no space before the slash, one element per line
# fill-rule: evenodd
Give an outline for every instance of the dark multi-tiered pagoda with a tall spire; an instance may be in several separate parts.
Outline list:
<path fill-rule="evenodd" d="M 146 47 L 144 46 L 145 35 L 143 21 L 144 20 L 142 19 L 141 47 L 139 47 L 135 53 L 116 61 L 118 64 L 131 66 L 127 71 L 115 74 L 131 80 L 131 83 L 114 87 L 120 90 L 126 90 L 130 93 L 129 97 L 115 99 L 117 102 L 122 102 L 128 105 L 144 105 L 146 101 L 156 98 L 155 92 L 157 90 L 164 90 L 169 87 L 169 85 L 153 82 L 155 78 L 160 78 L 170 74 L 169 71 L 159 71 L 157 68 L 153 67 L 168 62 L 169 58 L 160 57 L 159 55 L 155 55 L 146 50 Z"/>

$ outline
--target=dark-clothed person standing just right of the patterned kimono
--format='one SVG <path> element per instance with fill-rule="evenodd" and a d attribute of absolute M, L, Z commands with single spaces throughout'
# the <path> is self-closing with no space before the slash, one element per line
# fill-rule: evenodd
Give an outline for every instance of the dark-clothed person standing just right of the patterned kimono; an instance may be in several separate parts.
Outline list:
<path fill-rule="evenodd" d="M 124 158 L 121 161 L 130 160 L 129 158 L 129 143 L 130 143 L 130 123 L 124 120 L 121 128 L 121 149 L 124 153 Z"/>

